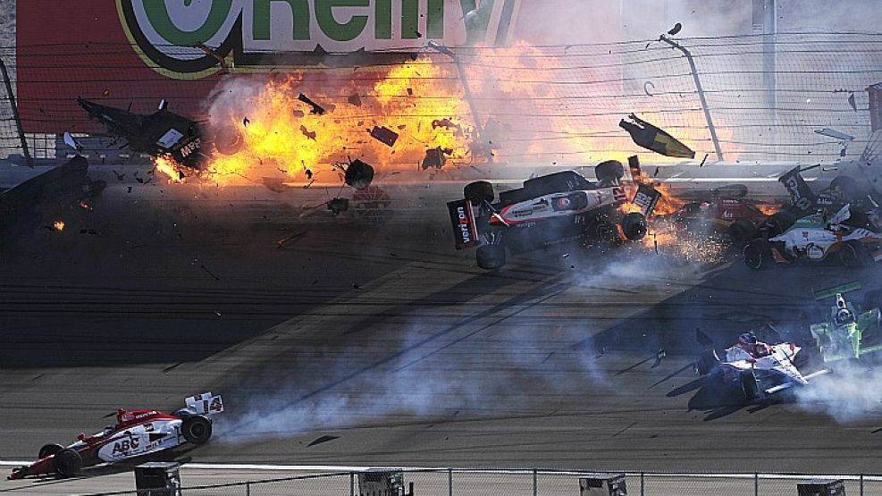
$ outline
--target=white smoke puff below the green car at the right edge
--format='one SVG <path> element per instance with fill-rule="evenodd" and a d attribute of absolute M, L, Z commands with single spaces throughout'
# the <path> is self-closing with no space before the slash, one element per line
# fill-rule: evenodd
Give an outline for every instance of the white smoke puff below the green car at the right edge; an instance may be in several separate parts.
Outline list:
<path fill-rule="evenodd" d="M 843 362 L 795 391 L 796 405 L 848 423 L 882 414 L 882 370 Z"/>

